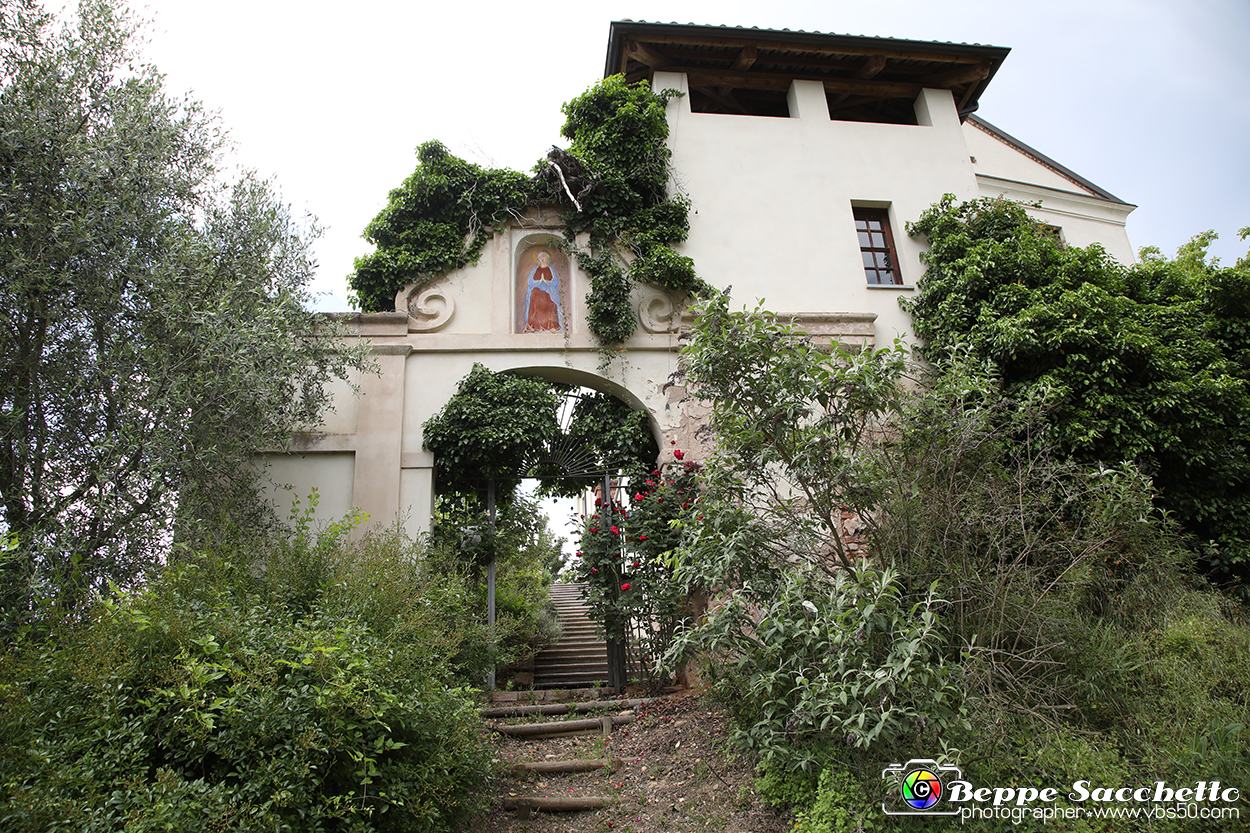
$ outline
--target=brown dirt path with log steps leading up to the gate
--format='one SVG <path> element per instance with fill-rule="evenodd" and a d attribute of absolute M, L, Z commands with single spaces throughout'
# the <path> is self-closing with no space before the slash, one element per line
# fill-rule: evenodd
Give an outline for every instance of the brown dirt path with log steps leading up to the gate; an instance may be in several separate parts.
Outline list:
<path fill-rule="evenodd" d="M 766 808 L 755 794 L 751 765 L 729 745 L 718 710 L 691 694 L 661 698 L 635 709 L 605 714 L 636 720 L 616 727 L 611 737 L 524 740 L 495 734 L 496 767 L 491 809 L 476 820 L 478 833 L 632 833 L 725 830 L 784 833 L 788 819 Z M 568 719 L 585 719 L 585 714 Z M 594 717 L 594 715 L 591 715 Z M 529 717 L 509 723 L 560 720 Z M 496 720 L 501 722 L 501 720 Z M 494 734 L 494 733 L 492 733 Z M 509 769 L 521 762 L 619 759 L 615 772 L 530 774 L 515 778 Z M 574 813 L 535 812 L 528 820 L 502 809 L 506 799 L 528 795 L 570 798 L 601 795 L 601 809 Z"/>

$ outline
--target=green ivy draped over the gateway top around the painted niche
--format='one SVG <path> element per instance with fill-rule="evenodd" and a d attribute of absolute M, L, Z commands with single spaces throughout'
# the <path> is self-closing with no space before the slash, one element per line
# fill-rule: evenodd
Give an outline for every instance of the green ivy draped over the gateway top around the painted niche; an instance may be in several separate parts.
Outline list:
<path fill-rule="evenodd" d="M 694 261 L 674 249 L 690 230 L 689 200 L 669 194 L 665 104 L 674 95 L 604 79 L 564 105 L 570 148 L 552 148 L 531 176 L 480 168 L 436 141 L 421 145 L 416 171 L 365 229 L 378 250 L 356 259 L 350 279 L 361 309 L 390 310 L 406 284 L 476 263 L 510 216 L 538 205 L 559 210 L 565 249 L 590 278 L 588 325 L 601 344 L 634 334 L 634 284 L 705 294 Z"/>

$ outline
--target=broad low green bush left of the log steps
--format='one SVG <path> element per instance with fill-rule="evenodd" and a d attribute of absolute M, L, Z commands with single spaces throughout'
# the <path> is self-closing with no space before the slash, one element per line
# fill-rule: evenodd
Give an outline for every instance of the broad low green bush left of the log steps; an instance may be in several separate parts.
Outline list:
<path fill-rule="evenodd" d="M 0 678 L 12 830 L 444 830 L 489 755 L 462 585 L 394 535 L 202 555 Z"/>

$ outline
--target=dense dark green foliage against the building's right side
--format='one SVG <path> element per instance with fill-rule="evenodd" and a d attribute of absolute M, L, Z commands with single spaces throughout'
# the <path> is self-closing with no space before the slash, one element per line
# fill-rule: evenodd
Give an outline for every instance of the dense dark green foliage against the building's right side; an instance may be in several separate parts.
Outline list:
<path fill-rule="evenodd" d="M 1009 396 L 1042 394 L 1062 454 L 1141 467 L 1216 577 L 1250 580 L 1250 258 L 1208 260 L 1206 233 L 1125 269 L 1004 200 L 948 196 L 908 230 L 930 243 L 908 305 L 926 355 L 968 345 Z"/>

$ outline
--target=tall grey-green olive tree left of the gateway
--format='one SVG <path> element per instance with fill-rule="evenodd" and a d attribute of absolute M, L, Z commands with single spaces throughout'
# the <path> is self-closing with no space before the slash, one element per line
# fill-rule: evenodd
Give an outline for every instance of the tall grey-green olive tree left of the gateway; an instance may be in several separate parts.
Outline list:
<path fill-rule="evenodd" d="M 218 178 L 222 134 L 116 0 L 0 10 L 0 605 L 76 604 L 255 508 L 360 365 L 308 310 L 310 234 Z"/>

